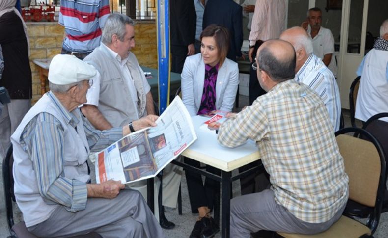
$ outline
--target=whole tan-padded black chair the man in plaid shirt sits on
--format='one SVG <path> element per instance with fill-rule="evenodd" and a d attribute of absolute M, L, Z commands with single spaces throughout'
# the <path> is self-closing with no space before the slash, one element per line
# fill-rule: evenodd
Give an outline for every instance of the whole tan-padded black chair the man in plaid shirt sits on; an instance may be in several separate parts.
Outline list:
<path fill-rule="evenodd" d="M 348 135 L 353 133 L 353 135 Z M 339 151 L 349 176 L 349 200 L 371 208 L 366 224 L 353 220 L 344 212 L 327 231 L 316 235 L 279 233 L 286 238 L 372 237 L 380 220 L 384 198 L 386 164 L 383 147 L 369 132 L 344 128 L 335 132 Z M 358 138 L 367 138 L 367 140 Z M 346 209 L 345 209 L 346 211 Z"/>

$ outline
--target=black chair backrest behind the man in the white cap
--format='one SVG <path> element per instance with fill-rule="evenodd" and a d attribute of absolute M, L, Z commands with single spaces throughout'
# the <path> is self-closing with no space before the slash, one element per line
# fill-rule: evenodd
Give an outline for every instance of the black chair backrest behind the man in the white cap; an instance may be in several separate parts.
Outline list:
<path fill-rule="evenodd" d="M 12 209 L 12 200 L 15 201 L 15 195 L 13 192 L 14 181 L 13 181 L 13 174 L 12 174 L 12 167 L 13 167 L 12 152 L 13 152 L 13 149 L 11 144 L 2 162 L 2 176 L 3 176 L 2 178 L 3 178 L 3 185 L 4 185 L 4 200 L 5 200 L 5 210 L 6 210 L 6 216 L 7 216 L 8 229 L 11 235 L 16 236 L 16 234 L 12 231 L 12 226 L 15 224 L 13 220 L 13 209 Z"/>

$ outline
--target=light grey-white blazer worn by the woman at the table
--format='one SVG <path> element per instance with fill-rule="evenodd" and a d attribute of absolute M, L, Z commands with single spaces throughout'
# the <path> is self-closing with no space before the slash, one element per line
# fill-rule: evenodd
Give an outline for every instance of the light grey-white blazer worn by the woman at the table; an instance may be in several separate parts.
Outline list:
<path fill-rule="evenodd" d="M 181 74 L 182 100 L 191 116 L 198 113 L 201 106 L 203 84 L 205 81 L 205 63 L 201 53 L 189 56 L 185 60 Z M 216 109 L 232 111 L 239 85 L 239 69 L 236 62 L 225 59 L 217 73 Z"/>

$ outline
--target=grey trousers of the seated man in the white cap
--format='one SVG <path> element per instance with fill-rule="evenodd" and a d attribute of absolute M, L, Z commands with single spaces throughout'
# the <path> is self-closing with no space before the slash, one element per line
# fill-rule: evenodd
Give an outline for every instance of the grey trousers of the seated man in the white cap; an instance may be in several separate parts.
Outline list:
<path fill-rule="evenodd" d="M 162 228 L 138 191 L 124 189 L 114 199 L 88 198 L 86 208 L 68 212 L 63 206 L 49 219 L 27 228 L 39 237 L 68 237 L 92 231 L 104 238 L 165 238 Z"/>

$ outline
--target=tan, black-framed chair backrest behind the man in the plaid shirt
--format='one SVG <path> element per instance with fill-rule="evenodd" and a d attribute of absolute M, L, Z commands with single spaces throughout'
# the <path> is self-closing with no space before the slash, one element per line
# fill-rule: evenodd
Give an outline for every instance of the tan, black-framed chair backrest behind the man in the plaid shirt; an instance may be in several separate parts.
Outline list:
<path fill-rule="evenodd" d="M 335 135 L 349 176 L 349 199 L 373 208 L 367 222 L 371 228 L 379 222 L 384 201 L 386 163 L 383 147 L 371 133 L 360 128 L 344 128 Z"/>

